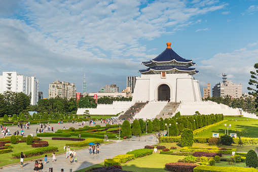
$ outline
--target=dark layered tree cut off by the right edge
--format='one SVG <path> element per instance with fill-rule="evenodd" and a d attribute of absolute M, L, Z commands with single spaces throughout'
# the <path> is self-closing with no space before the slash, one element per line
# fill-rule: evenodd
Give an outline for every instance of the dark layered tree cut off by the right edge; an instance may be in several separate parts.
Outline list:
<path fill-rule="evenodd" d="M 253 67 L 255 68 L 255 71 L 250 71 L 251 79 L 249 80 L 248 84 L 254 88 L 248 87 L 247 90 L 251 91 L 249 92 L 249 95 L 256 97 L 255 111 L 258 112 L 258 63 L 255 63 Z"/>

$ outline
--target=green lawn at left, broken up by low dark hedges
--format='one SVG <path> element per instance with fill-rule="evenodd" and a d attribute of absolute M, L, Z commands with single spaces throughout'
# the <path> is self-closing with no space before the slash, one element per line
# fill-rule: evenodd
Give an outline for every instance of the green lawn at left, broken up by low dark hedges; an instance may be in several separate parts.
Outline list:
<path fill-rule="evenodd" d="M 66 143 L 76 142 L 76 141 L 50 140 L 50 139 L 46 139 L 44 141 L 47 141 L 49 143 L 49 146 L 58 147 L 59 151 L 55 152 L 56 154 L 66 152 L 63 150 L 63 147 L 65 146 Z M 18 152 L 20 153 L 21 151 L 25 152 L 25 151 L 36 149 L 36 148 L 32 148 L 31 145 L 27 145 L 26 143 L 18 143 L 18 144 L 14 144 L 14 145 L 9 144 L 9 145 L 13 146 L 13 149 L 12 149 L 13 152 L 9 152 L 9 153 L 0 155 L 0 166 L 20 162 L 20 159 L 11 159 L 12 154 L 14 154 L 14 153 L 18 153 Z M 88 148 L 88 146 L 80 147 L 80 148 L 78 148 L 78 147 L 70 147 L 70 148 L 78 150 L 78 149 Z M 48 153 L 47 155 L 51 156 L 51 154 L 52 153 Z M 33 156 L 30 158 L 24 158 L 24 161 L 31 160 L 31 159 L 40 159 L 40 158 L 44 159 L 44 157 L 45 157 L 45 154 L 40 155 L 40 156 Z"/>

